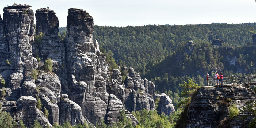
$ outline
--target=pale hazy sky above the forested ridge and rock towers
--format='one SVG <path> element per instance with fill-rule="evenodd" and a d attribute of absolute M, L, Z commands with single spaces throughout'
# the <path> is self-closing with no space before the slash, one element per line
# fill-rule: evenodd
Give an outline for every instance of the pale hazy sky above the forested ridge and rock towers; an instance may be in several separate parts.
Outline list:
<path fill-rule="evenodd" d="M 66 27 L 69 8 L 86 10 L 102 26 L 256 22 L 254 0 L 0 0 L 0 8 L 14 2 L 31 5 L 34 13 L 49 6 L 59 27 Z"/>

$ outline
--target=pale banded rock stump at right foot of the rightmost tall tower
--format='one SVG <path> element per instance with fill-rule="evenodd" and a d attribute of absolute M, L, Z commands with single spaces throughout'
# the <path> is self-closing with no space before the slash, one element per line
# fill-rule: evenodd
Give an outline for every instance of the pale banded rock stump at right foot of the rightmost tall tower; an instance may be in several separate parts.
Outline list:
<path fill-rule="evenodd" d="M 107 124 L 111 125 L 117 122 L 119 111 L 123 110 L 123 103 L 121 100 L 117 99 L 115 95 L 109 95 L 108 113 L 107 113 Z"/>

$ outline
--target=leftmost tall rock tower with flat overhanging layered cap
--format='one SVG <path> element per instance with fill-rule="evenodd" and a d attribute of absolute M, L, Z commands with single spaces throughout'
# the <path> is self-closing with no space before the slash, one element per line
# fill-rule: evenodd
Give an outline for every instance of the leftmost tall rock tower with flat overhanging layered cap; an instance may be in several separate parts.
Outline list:
<path fill-rule="evenodd" d="M 32 56 L 34 13 L 29 5 L 13 5 L 4 8 L 4 30 L 9 47 L 10 69 L 30 74 L 34 68 Z"/>

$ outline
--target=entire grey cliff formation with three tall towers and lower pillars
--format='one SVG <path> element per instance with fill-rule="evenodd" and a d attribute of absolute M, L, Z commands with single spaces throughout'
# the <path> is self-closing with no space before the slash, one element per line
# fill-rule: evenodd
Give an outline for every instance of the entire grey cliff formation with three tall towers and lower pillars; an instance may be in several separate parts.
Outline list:
<path fill-rule="evenodd" d="M 4 8 L 3 20 L 0 16 L 0 77 L 6 83 L 0 88 L 0 92 L 6 92 L 0 99 L 3 110 L 22 111 L 27 127 L 35 120 L 43 127 L 66 120 L 75 125 L 96 124 L 104 119 L 111 125 L 118 121 L 119 111 L 124 108 L 136 125 L 139 122 L 130 112 L 155 110 L 154 83 L 141 79 L 139 73 L 127 67 L 124 82 L 120 70 L 114 69 L 110 75 L 105 55 L 101 54 L 97 40 L 93 41 L 93 17 L 88 12 L 69 9 L 67 36 L 60 40 L 55 12 L 36 10 L 36 34 L 44 34 L 35 43 L 34 13 L 30 7 L 8 6 Z M 52 60 L 53 71 L 43 69 L 48 58 Z M 36 77 L 32 75 L 35 70 Z M 48 118 L 43 109 L 36 107 L 39 100 L 49 111 Z"/>

